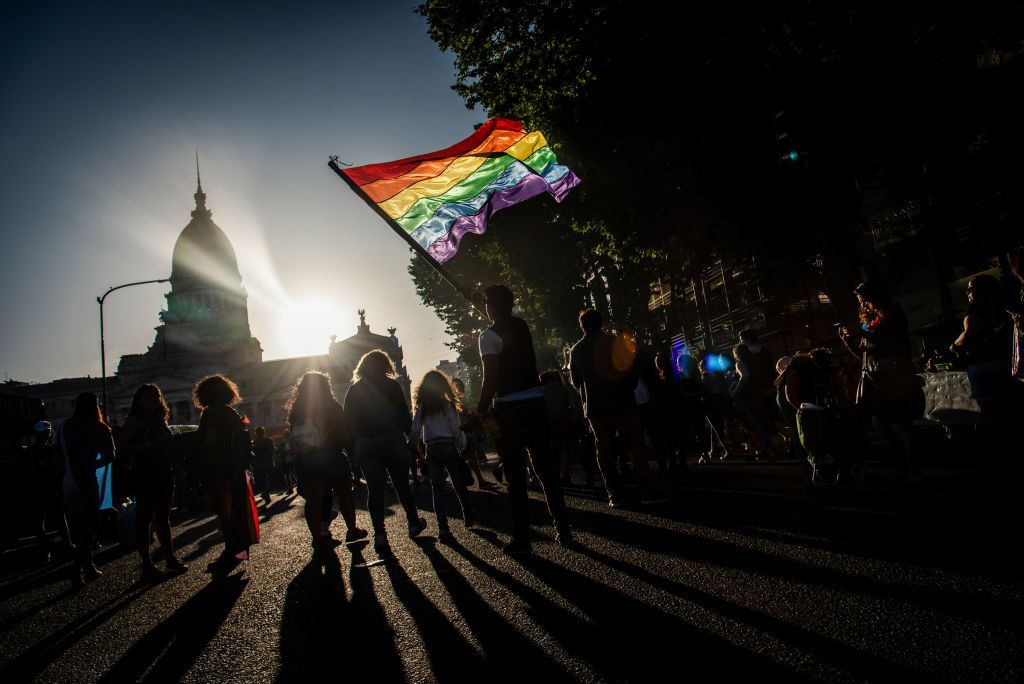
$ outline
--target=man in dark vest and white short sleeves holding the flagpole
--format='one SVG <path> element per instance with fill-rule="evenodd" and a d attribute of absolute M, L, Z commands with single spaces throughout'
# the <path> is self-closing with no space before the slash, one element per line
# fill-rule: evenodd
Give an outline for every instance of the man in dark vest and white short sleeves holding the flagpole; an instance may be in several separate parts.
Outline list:
<path fill-rule="evenodd" d="M 555 541 L 572 543 L 568 515 L 558 478 L 558 463 L 551 453 L 548 414 L 537 372 L 534 337 L 522 318 L 512 315 L 512 291 L 503 285 L 484 290 L 490 328 L 480 333 L 483 383 L 476 405 L 481 418 L 494 416 L 495 443 L 508 478 L 512 508 L 512 541 L 508 554 L 530 553 L 529 507 L 526 496 L 526 460 L 541 478 L 548 512 L 555 524 Z"/>

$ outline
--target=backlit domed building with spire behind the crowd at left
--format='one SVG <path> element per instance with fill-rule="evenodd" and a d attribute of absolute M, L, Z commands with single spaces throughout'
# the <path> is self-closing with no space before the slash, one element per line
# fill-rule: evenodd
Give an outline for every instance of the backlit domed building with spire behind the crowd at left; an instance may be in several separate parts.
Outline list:
<path fill-rule="evenodd" d="M 383 349 L 390 356 L 409 401 L 409 374 L 395 329 L 388 329 L 387 337 L 372 333 L 362 309 L 355 334 L 344 340 L 332 338 L 327 353 L 263 360 L 259 340 L 249 329 L 249 295 L 234 248 L 213 221 L 198 169 L 194 197 L 191 220 L 174 244 L 171 291 L 159 314 L 156 338 L 144 353 L 122 356 L 116 377 L 108 379 L 112 422 L 124 420 L 139 385 L 156 383 L 171 408 L 170 422 L 195 424 L 199 410 L 193 407 L 193 386 L 203 376 L 222 373 L 239 386 L 239 413 L 252 425 L 266 427 L 268 434 L 280 434 L 287 423 L 285 401 L 303 373 L 330 375 L 338 399 L 343 400 L 359 357 L 372 349 Z M 50 418 L 59 420 L 71 415 L 77 392 L 99 394 L 99 378 L 57 380 L 19 391 L 43 399 Z"/>

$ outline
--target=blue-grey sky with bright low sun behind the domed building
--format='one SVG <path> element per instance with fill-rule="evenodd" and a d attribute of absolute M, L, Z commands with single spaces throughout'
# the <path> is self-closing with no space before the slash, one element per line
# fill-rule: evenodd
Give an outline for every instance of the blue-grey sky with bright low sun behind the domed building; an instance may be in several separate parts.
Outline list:
<path fill-rule="evenodd" d="M 99 375 L 96 297 L 170 274 L 197 149 L 265 359 L 326 353 L 359 308 L 397 328 L 414 378 L 453 358 L 408 246 L 327 167 L 445 147 L 486 118 L 414 7 L 2 3 L 0 380 Z M 169 291 L 106 300 L 109 373 L 153 343 Z"/>

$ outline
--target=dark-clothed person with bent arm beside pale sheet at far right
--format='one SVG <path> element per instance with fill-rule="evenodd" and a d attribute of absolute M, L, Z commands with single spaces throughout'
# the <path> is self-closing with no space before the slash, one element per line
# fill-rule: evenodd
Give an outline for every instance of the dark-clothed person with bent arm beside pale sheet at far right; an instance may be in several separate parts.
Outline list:
<path fill-rule="evenodd" d="M 1002 456 L 1013 446 L 1014 398 L 1020 389 L 1011 375 L 1013 319 L 1002 286 L 991 275 L 971 279 L 967 298 L 964 332 L 949 350 L 967 367 L 971 394 L 981 409 L 994 451 Z"/>

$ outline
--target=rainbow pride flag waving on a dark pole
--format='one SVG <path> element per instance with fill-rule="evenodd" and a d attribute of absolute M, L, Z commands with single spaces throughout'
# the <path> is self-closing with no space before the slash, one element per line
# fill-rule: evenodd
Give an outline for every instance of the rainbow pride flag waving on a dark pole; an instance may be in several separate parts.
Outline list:
<path fill-rule="evenodd" d="M 357 194 L 437 263 L 497 211 L 549 193 L 561 202 L 580 184 L 540 131 L 490 119 L 446 149 L 341 170 Z"/>

